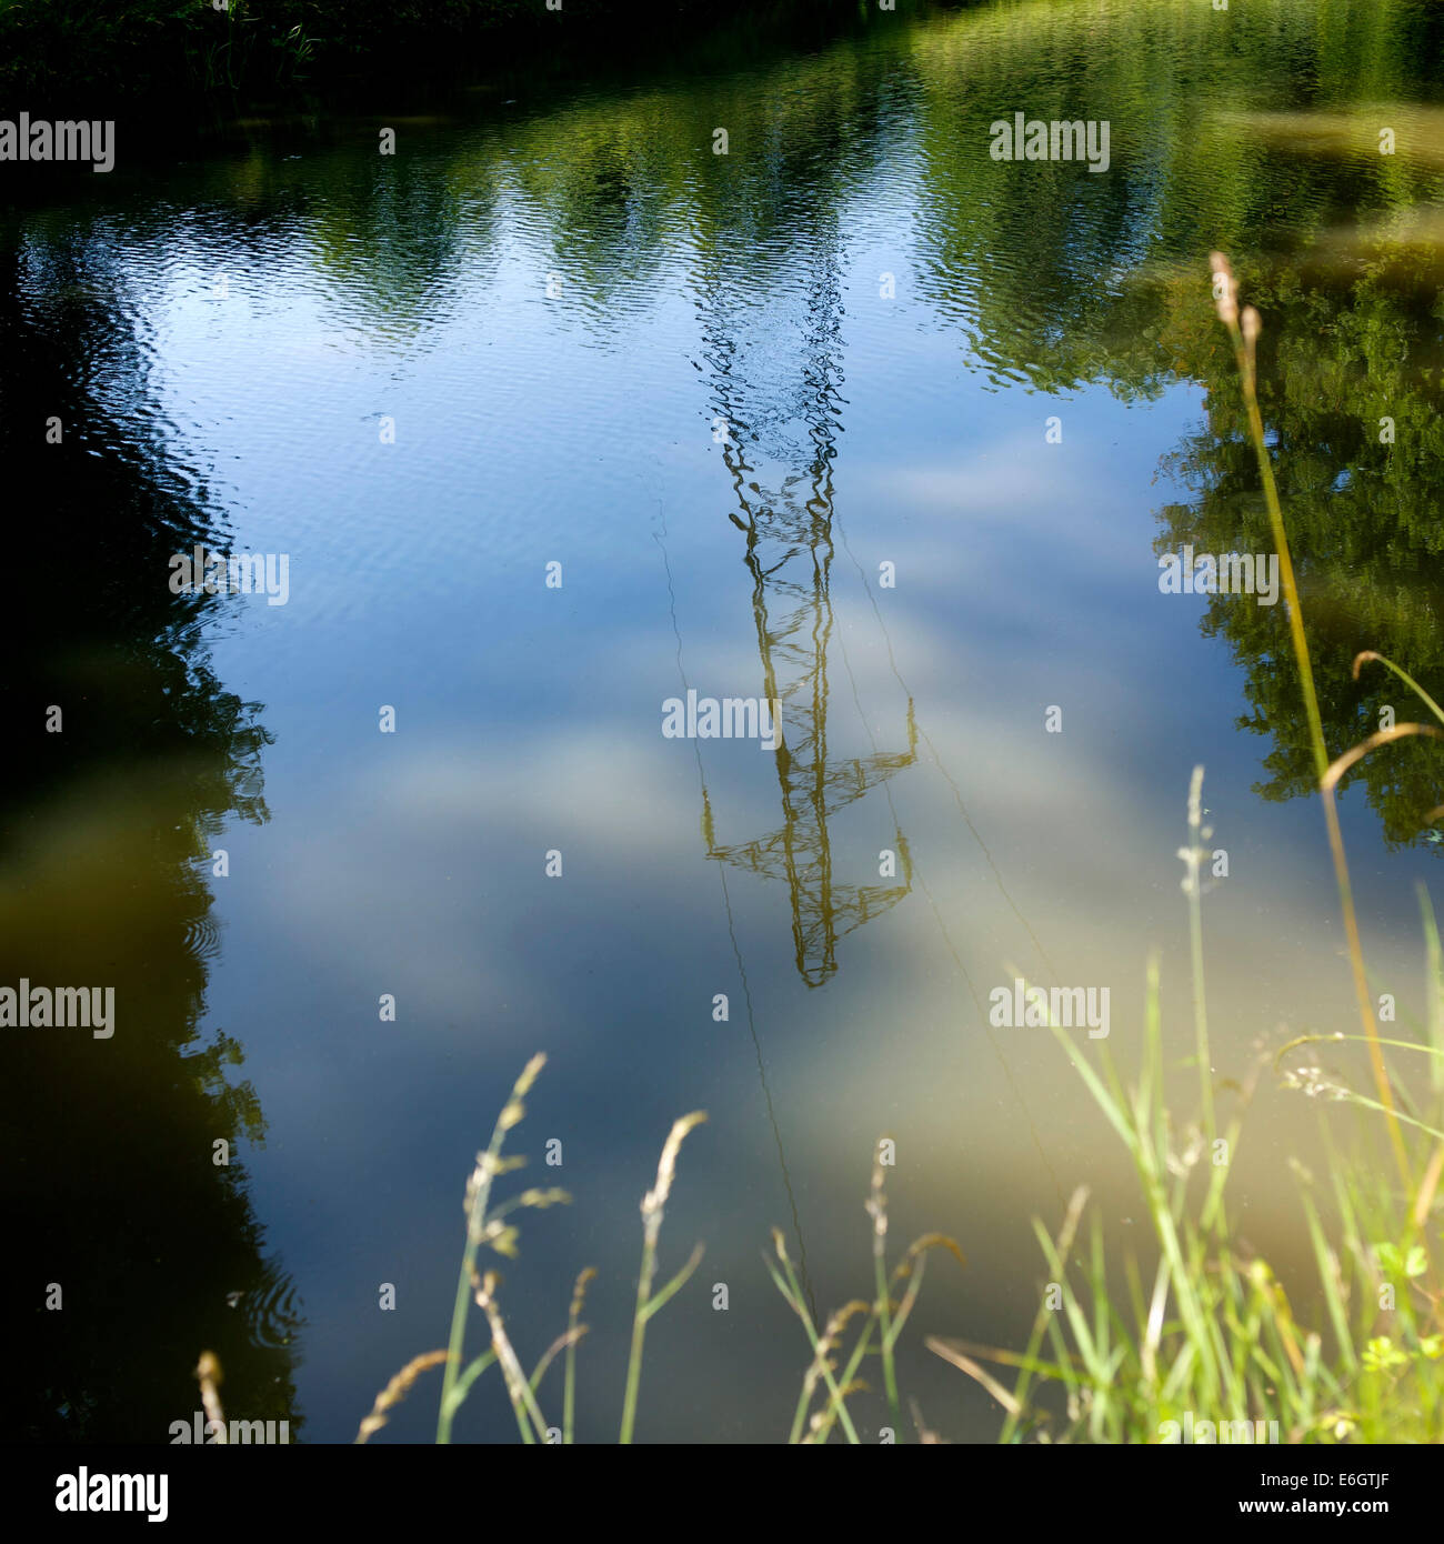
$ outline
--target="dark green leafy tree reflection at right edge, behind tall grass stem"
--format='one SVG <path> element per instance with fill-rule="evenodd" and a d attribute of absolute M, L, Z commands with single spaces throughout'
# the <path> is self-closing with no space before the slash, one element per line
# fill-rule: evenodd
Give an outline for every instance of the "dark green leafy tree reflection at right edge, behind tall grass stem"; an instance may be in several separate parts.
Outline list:
<path fill-rule="evenodd" d="M 1398 661 L 1425 692 L 1444 689 L 1441 278 L 1438 249 L 1410 245 L 1325 266 L 1256 261 L 1240 275 L 1242 292 L 1263 315 L 1260 405 L 1331 755 L 1387 723 L 1388 709 L 1401 723 L 1427 716 L 1378 665 L 1365 665 L 1354 681 L 1359 652 Z M 1185 303 L 1192 315 L 1180 321 L 1180 347 L 1203 326 L 1206 307 L 1206 295 Z M 1185 543 L 1266 551 L 1268 522 L 1231 363 L 1215 354 L 1197 358 L 1194 371 L 1208 383 L 1206 428 L 1177 452 L 1172 471 L 1195 497 L 1161 511 L 1158 551 Z M 1240 724 L 1274 740 L 1260 792 L 1311 792 L 1282 607 L 1215 596 L 1205 628 L 1228 639 L 1246 672 L 1251 712 Z M 1444 750 L 1425 740 L 1388 746 L 1345 781 L 1365 784 L 1387 840 L 1408 841 L 1444 803 Z"/>

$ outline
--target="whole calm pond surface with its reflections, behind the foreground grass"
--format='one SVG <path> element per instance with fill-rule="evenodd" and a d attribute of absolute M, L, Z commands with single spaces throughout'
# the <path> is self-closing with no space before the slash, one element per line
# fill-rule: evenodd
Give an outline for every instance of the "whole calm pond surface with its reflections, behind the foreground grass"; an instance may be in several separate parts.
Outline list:
<path fill-rule="evenodd" d="M 1157 948 L 1188 1113 L 1197 763 L 1219 1078 L 1350 1027 L 1283 607 L 1161 594 L 1158 556 L 1269 545 L 1222 247 L 1331 749 L 1415 716 L 1358 650 L 1444 689 L 1441 46 L 1425 3 L 982 5 L 258 124 L 9 208 L 3 980 L 117 1002 L 110 1041 L 6 1031 L 19 1430 L 164 1442 L 212 1348 L 230 1414 L 349 1441 L 445 1343 L 466 1175 L 545 1050 L 514 1150 L 573 1204 L 524 1214 L 502 1302 L 530 1363 L 598 1268 L 582 1439 L 615 1439 L 638 1203 L 693 1109 L 663 1269 L 707 1252 L 639 1437 L 786 1434 L 769 1229 L 822 1311 L 868 1292 L 882 1136 L 894 1246 L 968 1258 L 928 1272 L 905 1391 L 991 1437 L 922 1336 L 1021 1343 L 1032 1218 L 1076 1184 L 1120 1251 L 1141 1218 L 1058 1045 L 988 993 L 1107 987 L 1127 1065 Z M 1015 111 L 1107 120 L 1109 170 L 990 159 Z M 287 554 L 286 604 L 171 594 L 196 542 Z M 785 750 L 664 738 L 687 689 L 777 698 Z M 1408 1010 L 1441 786 L 1413 744 L 1342 801 Z M 1300 1303 L 1285 1160 L 1316 1130 L 1265 1076 L 1232 1181 Z M 434 1414 L 428 1385 L 380 1441 Z M 497 1387 L 457 1436 L 516 1436 Z"/>

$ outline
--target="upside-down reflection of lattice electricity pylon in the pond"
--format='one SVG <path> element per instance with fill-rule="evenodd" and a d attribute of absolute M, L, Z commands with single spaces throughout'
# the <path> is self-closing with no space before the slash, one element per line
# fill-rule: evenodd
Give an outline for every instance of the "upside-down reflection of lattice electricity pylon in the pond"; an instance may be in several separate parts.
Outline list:
<path fill-rule="evenodd" d="M 717 293 L 714 290 L 714 293 Z M 769 701 L 781 715 L 781 744 L 775 750 L 783 823 L 751 841 L 723 843 L 715 837 L 712 804 L 703 786 L 703 834 L 707 855 L 768 879 L 786 880 L 792 900 L 792 942 L 797 971 L 809 987 L 820 987 L 837 970 L 837 940 L 894 906 L 913 888 L 913 863 L 902 831 L 894 835 L 894 885 L 849 885 L 832 874 L 828 820 L 869 789 L 917 758 L 917 727 L 908 703 L 908 749 L 876 752 L 845 761 L 828 760 L 828 642 L 832 635 L 829 570 L 832 564 L 832 459 L 836 455 L 837 262 L 820 249 L 809 296 L 812 329 L 803 350 L 803 412 L 812 442 L 806 480 L 811 497 L 800 503 L 792 489 L 803 479 L 788 477 L 780 497 L 769 500 L 755 482 L 743 448 L 732 440 L 743 418 L 730 412 L 730 340 L 715 335 L 712 360 L 718 369 L 721 401 L 729 409 L 723 459 L 741 517 L 734 525 L 747 536 L 746 565 L 752 574 L 752 613 L 757 648 Z"/>

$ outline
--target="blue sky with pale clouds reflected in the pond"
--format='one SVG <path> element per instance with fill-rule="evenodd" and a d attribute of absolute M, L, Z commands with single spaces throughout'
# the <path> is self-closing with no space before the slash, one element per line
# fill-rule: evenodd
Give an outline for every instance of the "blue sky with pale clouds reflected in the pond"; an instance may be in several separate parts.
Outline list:
<path fill-rule="evenodd" d="M 948 25 L 962 39 L 968 22 Z M 849 117 L 834 88 L 853 65 L 886 85 Z M 615 1434 L 638 1201 L 690 1109 L 710 1119 L 684 1150 L 666 1255 L 693 1238 L 707 1255 L 650 1332 L 639 1436 L 786 1430 L 805 1346 L 758 1255 L 772 1224 L 800 1232 L 819 1302 L 854 1295 L 880 1135 L 899 1143 L 894 1237 L 941 1229 L 970 1258 L 961 1277 L 934 1265 L 903 1376 L 945 1434 L 990 1436 L 995 1413 L 916 1349 L 922 1336 L 1016 1342 L 1041 1278 L 1030 1217 L 1055 1221 L 1087 1180 L 1127 1243 L 1134 1203 L 1052 1041 L 990 1031 L 978 1002 L 1015 965 L 1107 985 L 1126 1061 L 1157 946 L 1188 1044 L 1175 849 L 1195 763 L 1231 863 L 1206 902 L 1220 1075 L 1242 1076 L 1257 1038 L 1331 1025 L 1347 1004 L 1319 811 L 1257 797 L 1269 741 L 1237 729 L 1231 647 L 1200 631 L 1202 599 L 1157 588 L 1158 510 L 1189 497 L 1163 462 L 1206 428 L 1203 388 L 1126 400 L 1104 364 L 1097 384 L 1044 391 L 1036 361 L 993 367 L 968 347 L 993 275 L 961 266 L 939 296 L 939 252 L 959 238 L 925 198 L 936 124 L 917 116 L 917 77 L 890 69 L 846 49 L 800 63 L 798 116 L 836 114 L 842 150 L 826 159 L 822 134 L 828 170 L 795 187 L 778 173 L 771 204 L 743 161 L 721 235 L 703 150 L 656 141 L 709 122 L 709 93 L 744 96 L 746 77 L 703 82 L 697 102 L 658 88 L 655 111 L 621 93 L 632 116 L 602 91 L 520 120 L 408 125 L 395 165 L 343 145 L 117 173 L 111 204 L 88 195 L 32 235 L 107 250 L 110 303 L 145 357 L 136 434 L 164 448 L 216 543 L 290 556 L 287 605 L 227 598 L 204 622 L 216 676 L 264 704 L 273 744 L 269 821 L 215 838 L 230 874 L 212 885 L 199 1028 L 244 1044 L 266 1112 L 246 1161 L 306 1308 L 310 1441 L 347 1441 L 391 1373 L 443 1342 L 462 1186 L 539 1048 L 551 1061 L 517 1147 L 562 1139 L 562 1169 L 537 1183 L 575 1206 L 528 1218 L 503 1302 L 539 1353 L 575 1274 L 599 1266 L 584 1439 Z M 599 215 L 558 184 L 613 107 L 612 153 L 666 196 Z M 1161 110 L 1152 144 L 1171 144 Z M 809 165 L 811 148 L 792 153 Z M 1146 151 L 1121 153 L 1137 202 L 1112 238 L 1120 272 L 1144 264 Z M 825 409 L 817 371 L 836 386 Z M 712 437 L 720 412 L 743 420 L 741 474 Z M 1046 443 L 1050 415 L 1061 445 Z M 897 831 L 914 883 L 837 943 L 820 987 L 795 965 L 788 886 L 709 858 L 693 746 L 661 735 L 678 648 L 700 692 L 763 692 L 735 482 L 778 520 L 805 508 L 819 435 L 829 755 L 905 746 L 910 701 L 920 730 L 886 797 L 829 821 L 839 885 L 877 883 Z M 545 588 L 550 560 L 561 590 Z M 896 588 L 879 585 L 885 562 Z M 151 581 L 164 573 L 136 576 Z M 1055 704 L 1061 735 L 1044 730 Z M 774 760 L 700 749 L 717 840 L 774 831 Z M 73 815 L 51 817 L 57 852 Z M 1433 860 L 1385 849 L 1362 795 L 1344 818 L 1371 962 L 1416 1004 L 1413 883 Z M 550 849 L 562 879 L 544 874 Z M 1314 1109 L 1265 1084 L 1236 1183 L 1285 1266 L 1305 1241 L 1282 1158 L 1311 1152 L 1313 1132 Z M 381 1282 L 395 1312 L 377 1309 Z M 425 1439 L 432 1410 L 415 1394 L 391 1436 Z M 457 1434 L 514 1433 L 500 1399 L 476 1397 Z"/>

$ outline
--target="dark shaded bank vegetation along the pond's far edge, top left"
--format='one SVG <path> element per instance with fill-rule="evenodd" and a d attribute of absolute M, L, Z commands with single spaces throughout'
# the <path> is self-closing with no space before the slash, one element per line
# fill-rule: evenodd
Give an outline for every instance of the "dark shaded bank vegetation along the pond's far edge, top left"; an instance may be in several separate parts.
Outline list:
<path fill-rule="evenodd" d="M 565 57 L 636 59 L 712 32 L 746 46 L 831 39 L 933 0 L 0 0 L 0 103 L 154 122 L 400 82 L 446 85 Z M 686 28 L 695 37 L 678 37 Z"/>

